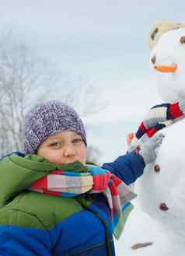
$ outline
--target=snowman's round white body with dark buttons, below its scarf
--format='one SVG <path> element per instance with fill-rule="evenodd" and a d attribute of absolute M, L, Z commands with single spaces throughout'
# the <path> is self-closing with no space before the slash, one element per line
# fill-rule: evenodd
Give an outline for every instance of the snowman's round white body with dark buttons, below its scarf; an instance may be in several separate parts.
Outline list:
<path fill-rule="evenodd" d="M 163 225 L 185 235 L 185 119 L 165 128 L 155 163 L 145 167 L 137 185 L 141 209 Z M 185 137 L 185 136 L 184 136 Z M 159 172 L 154 166 L 158 164 Z M 160 205 L 165 203 L 167 210 Z"/>

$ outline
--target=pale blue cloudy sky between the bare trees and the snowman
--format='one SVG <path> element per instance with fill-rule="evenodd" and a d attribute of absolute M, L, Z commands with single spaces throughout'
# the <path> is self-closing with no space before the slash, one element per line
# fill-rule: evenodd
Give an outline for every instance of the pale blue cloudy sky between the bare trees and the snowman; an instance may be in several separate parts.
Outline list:
<path fill-rule="evenodd" d="M 184 0 L 178 3 L 0 0 L 0 3 L 2 29 L 12 26 L 40 54 L 52 58 L 72 74 L 86 76 L 101 89 L 100 96 L 110 100 L 103 114 L 89 121 L 98 122 L 102 131 L 106 127 L 106 132 L 99 129 L 103 147 L 107 134 L 112 138 L 121 128 L 124 133 L 129 132 L 148 107 L 159 102 L 148 65 L 148 33 L 163 19 L 183 23 Z M 121 149 L 119 136 L 115 137 L 113 145 Z"/>

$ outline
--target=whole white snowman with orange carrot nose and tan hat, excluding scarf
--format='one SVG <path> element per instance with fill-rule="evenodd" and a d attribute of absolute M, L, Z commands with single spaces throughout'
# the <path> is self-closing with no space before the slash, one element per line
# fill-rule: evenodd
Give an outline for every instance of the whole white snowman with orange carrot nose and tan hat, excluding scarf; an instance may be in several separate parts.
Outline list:
<path fill-rule="evenodd" d="M 149 37 L 150 66 L 163 103 L 185 103 L 185 25 L 158 23 Z M 169 106 L 169 105 L 168 105 Z M 184 112 L 183 112 L 184 114 Z M 141 209 L 168 233 L 185 235 L 185 118 L 169 121 L 155 163 L 145 167 L 136 191 Z M 131 140 L 128 137 L 128 140 Z M 185 244 L 185 243 L 184 243 Z"/>

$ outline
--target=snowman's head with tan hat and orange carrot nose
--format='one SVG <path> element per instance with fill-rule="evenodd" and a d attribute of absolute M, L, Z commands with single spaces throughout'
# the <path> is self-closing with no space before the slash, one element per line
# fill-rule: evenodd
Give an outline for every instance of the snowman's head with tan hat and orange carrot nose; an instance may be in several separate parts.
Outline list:
<path fill-rule="evenodd" d="M 150 33 L 149 47 L 150 66 L 162 100 L 185 100 L 185 25 L 157 24 Z"/>

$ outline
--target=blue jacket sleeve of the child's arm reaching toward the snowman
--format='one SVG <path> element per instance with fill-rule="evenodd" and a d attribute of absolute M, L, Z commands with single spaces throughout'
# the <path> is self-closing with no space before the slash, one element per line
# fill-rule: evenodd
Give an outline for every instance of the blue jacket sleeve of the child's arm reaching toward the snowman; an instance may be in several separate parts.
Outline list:
<path fill-rule="evenodd" d="M 143 174 L 145 162 L 141 155 L 128 153 L 124 156 L 119 156 L 112 163 L 103 163 L 102 168 L 110 170 L 112 174 L 117 175 L 121 181 L 129 185 Z"/>

